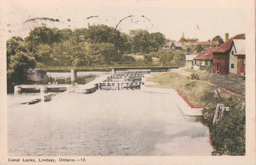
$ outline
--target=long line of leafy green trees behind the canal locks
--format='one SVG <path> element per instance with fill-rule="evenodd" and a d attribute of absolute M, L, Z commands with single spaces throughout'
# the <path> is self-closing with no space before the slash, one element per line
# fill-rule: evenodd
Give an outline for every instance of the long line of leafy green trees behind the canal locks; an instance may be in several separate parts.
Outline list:
<path fill-rule="evenodd" d="M 123 54 L 158 51 L 164 44 L 164 35 L 145 30 L 120 33 L 105 25 L 81 29 L 38 27 L 24 38 L 7 41 L 7 57 L 24 52 L 34 58 L 36 67 L 111 65 L 124 61 Z M 17 48 L 18 47 L 18 48 Z"/>

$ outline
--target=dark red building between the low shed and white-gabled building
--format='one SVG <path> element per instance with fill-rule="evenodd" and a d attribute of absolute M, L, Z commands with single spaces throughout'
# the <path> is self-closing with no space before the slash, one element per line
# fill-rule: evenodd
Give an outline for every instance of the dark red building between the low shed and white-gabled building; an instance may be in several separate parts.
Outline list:
<path fill-rule="evenodd" d="M 245 34 L 236 35 L 213 50 L 212 72 L 226 75 L 229 73 L 230 49 L 233 40 L 245 40 Z"/>

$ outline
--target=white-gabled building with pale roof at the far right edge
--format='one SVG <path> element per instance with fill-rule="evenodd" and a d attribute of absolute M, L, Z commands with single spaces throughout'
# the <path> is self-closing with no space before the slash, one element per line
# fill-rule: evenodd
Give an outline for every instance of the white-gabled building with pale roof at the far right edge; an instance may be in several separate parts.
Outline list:
<path fill-rule="evenodd" d="M 229 55 L 229 74 L 245 75 L 245 40 L 232 40 Z"/>

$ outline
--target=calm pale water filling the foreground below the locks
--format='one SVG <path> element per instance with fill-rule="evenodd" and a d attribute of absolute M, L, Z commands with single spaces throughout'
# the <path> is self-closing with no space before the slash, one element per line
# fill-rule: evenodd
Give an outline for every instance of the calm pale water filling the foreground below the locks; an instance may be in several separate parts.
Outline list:
<path fill-rule="evenodd" d="M 211 155 L 209 129 L 168 94 L 140 90 L 8 95 L 8 155 Z"/>

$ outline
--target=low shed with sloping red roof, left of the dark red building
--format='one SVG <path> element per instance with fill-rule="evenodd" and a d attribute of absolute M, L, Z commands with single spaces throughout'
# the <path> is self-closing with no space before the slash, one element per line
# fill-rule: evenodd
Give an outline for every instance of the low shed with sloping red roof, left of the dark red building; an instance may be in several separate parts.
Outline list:
<path fill-rule="evenodd" d="M 212 51 L 214 50 L 214 47 L 208 48 L 205 51 L 201 52 L 197 56 L 195 56 L 195 68 L 198 68 L 200 70 L 212 70 Z"/>

